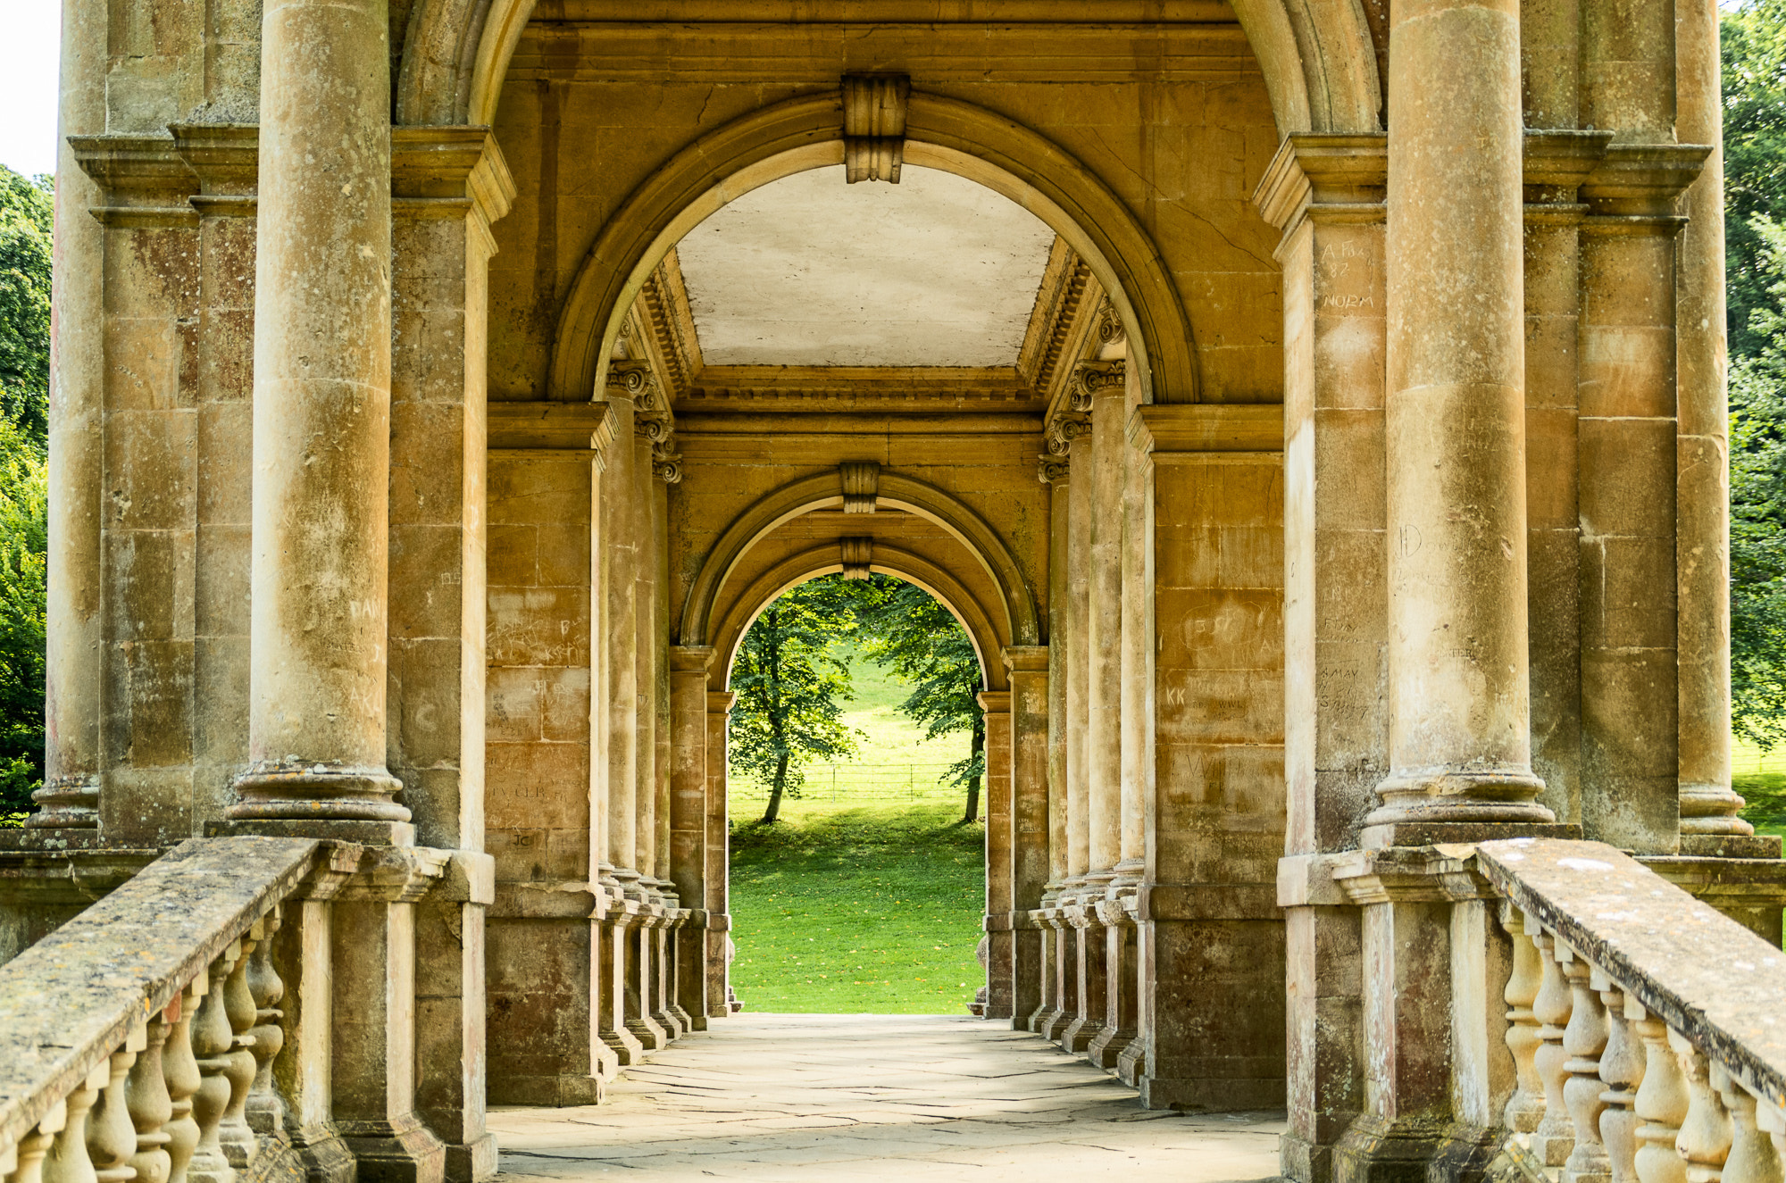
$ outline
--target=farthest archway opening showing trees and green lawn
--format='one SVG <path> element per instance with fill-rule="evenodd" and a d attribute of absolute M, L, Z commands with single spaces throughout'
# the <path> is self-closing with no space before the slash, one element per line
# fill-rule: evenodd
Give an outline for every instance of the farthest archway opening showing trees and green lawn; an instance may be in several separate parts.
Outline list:
<path fill-rule="evenodd" d="M 820 574 L 730 654 L 732 990 L 754 1011 L 984 1003 L 986 675 L 956 613 Z"/>

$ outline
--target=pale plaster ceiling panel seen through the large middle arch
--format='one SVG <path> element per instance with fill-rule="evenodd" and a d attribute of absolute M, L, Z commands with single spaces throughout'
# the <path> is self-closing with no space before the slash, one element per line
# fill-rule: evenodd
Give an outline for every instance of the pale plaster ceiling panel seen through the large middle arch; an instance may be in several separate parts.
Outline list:
<path fill-rule="evenodd" d="M 818 168 L 752 189 L 677 245 L 713 366 L 1009 366 L 1050 231 L 954 173 Z"/>

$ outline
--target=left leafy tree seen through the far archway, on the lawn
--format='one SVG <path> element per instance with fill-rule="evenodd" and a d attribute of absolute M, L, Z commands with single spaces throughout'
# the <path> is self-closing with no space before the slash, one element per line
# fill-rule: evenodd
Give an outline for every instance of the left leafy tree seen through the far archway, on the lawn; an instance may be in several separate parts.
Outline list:
<path fill-rule="evenodd" d="M 854 629 L 854 595 L 841 577 L 822 575 L 784 592 L 745 633 L 732 663 L 729 763 L 770 784 L 764 826 L 780 815 L 784 792 L 798 795 L 809 759 L 855 754 L 855 733 L 843 726 L 850 667 L 832 652 Z"/>

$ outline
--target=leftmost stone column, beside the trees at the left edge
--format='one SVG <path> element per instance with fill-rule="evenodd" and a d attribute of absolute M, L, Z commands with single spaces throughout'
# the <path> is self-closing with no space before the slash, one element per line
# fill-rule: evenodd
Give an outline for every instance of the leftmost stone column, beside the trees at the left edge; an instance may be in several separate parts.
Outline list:
<path fill-rule="evenodd" d="M 104 0 L 63 0 L 54 288 L 50 293 L 50 615 L 45 631 L 45 779 L 32 829 L 93 829 L 100 793 L 100 499 L 105 393 L 105 231 L 98 189 L 70 136 L 105 130 Z"/>

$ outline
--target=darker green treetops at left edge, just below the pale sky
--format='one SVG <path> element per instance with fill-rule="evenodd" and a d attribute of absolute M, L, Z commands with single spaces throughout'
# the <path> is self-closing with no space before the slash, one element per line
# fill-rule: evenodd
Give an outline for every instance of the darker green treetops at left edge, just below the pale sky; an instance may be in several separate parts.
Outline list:
<path fill-rule="evenodd" d="M 50 179 L 0 164 L 0 418 L 39 449 L 50 415 Z"/>

